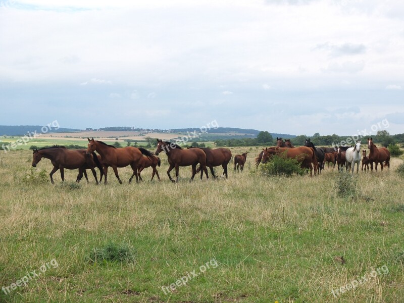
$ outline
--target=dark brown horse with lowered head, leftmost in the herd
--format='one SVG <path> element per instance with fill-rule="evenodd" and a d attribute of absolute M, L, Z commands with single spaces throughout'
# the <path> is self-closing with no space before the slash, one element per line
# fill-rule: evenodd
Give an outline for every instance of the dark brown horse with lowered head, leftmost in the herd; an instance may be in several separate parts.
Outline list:
<path fill-rule="evenodd" d="M 51 173 L 49 173 L 52 184 L 54 184 L 54 179 L 52 176 L 58 170 L 60 170 L 62 181 L 65 181 L 65 168 L 79 169 L 76 182 L 80 181 L 83 173 L 88 182 L 87 173 L 85 170 L 90 169 L 95 178 L 95 183 L 98 184 L 97 174 L 94 170 L 95 166 L 98 167 L 99 171 L 101 172 L 101 178 L 103 178 L 103 165 L 99 162 L 97 155 L 95 155 L 95 153 L 91 153 L 87 157 L 85 149 L 67 149 L 65 146 L 44 147 L 40 148 L 39 150 L 35 148 L 32 153 L 31 165 L 36 167 L 42 158 L 51 160 L 51 163 L 54 166 Z"/>

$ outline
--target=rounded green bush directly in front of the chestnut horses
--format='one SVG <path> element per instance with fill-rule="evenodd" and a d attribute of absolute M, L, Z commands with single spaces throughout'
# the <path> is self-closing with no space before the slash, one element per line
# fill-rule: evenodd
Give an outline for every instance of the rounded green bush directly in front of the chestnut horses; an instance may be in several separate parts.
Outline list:
<path fill-rule="evenodd" d="M 267 163 L 260 166 L 260 171 L 265 176 L 287 176 L 294 174 L 302 175 L 304 170 L 300 168 L 300 163 L 296 159 L 284 156 L 273 156 Z"/>

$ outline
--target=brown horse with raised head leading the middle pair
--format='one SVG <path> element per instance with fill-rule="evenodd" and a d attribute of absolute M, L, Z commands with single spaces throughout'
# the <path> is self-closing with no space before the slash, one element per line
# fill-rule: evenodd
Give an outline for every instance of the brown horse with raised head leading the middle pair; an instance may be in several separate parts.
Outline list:
<path fill-rule="evenodd" d="M 196 165 L 199 163 L 200 169 L 203 170 L 206 174 L 206 178 L 209 179 L 208 170 L 206 168 L 206 154 L 200 148 L 189 148 L 182 149 L 181 146 L 177 145 L 173 142 L 163 141 L 157 139 L 157 149 L 156 156 L 158 156 L 162 151 L 166 153 L 168 158 L 168 163 L 170 167 L 168 168 L 167 175 L 170 178 L 171 182 L 178 182 L 178 172 L 180 166 L 191 166 L 192 167 L 192 177 L 189 180 L 191 182 L 193 177 L 196 174 Z M 177 177 L 176 181 L 174 181 L 170 172 L 175 168 L 175 175 Z M 200 174 L 200 179 L 202 179 L 203 173 Z"/>

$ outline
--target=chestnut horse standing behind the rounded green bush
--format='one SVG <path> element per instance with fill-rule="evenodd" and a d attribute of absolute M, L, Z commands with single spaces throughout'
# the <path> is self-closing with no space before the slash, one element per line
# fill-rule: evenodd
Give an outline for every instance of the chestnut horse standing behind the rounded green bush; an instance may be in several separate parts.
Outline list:
<path fill-rule="evenodd" d="M 310 169 L 310 176 L 316 175 L 318 169 L 318 162 L 316 159 L 315 151 L 311 147 L 299 146 L 295 148 L 288 147 L 267 147 L 263 149 L 263 156 L 261 158 L 262 163 L 266 163 L 270 155 L 279 155 L 285 153 L 287 158 L 296 159 L 300 163 L 301 168 Z"/>

